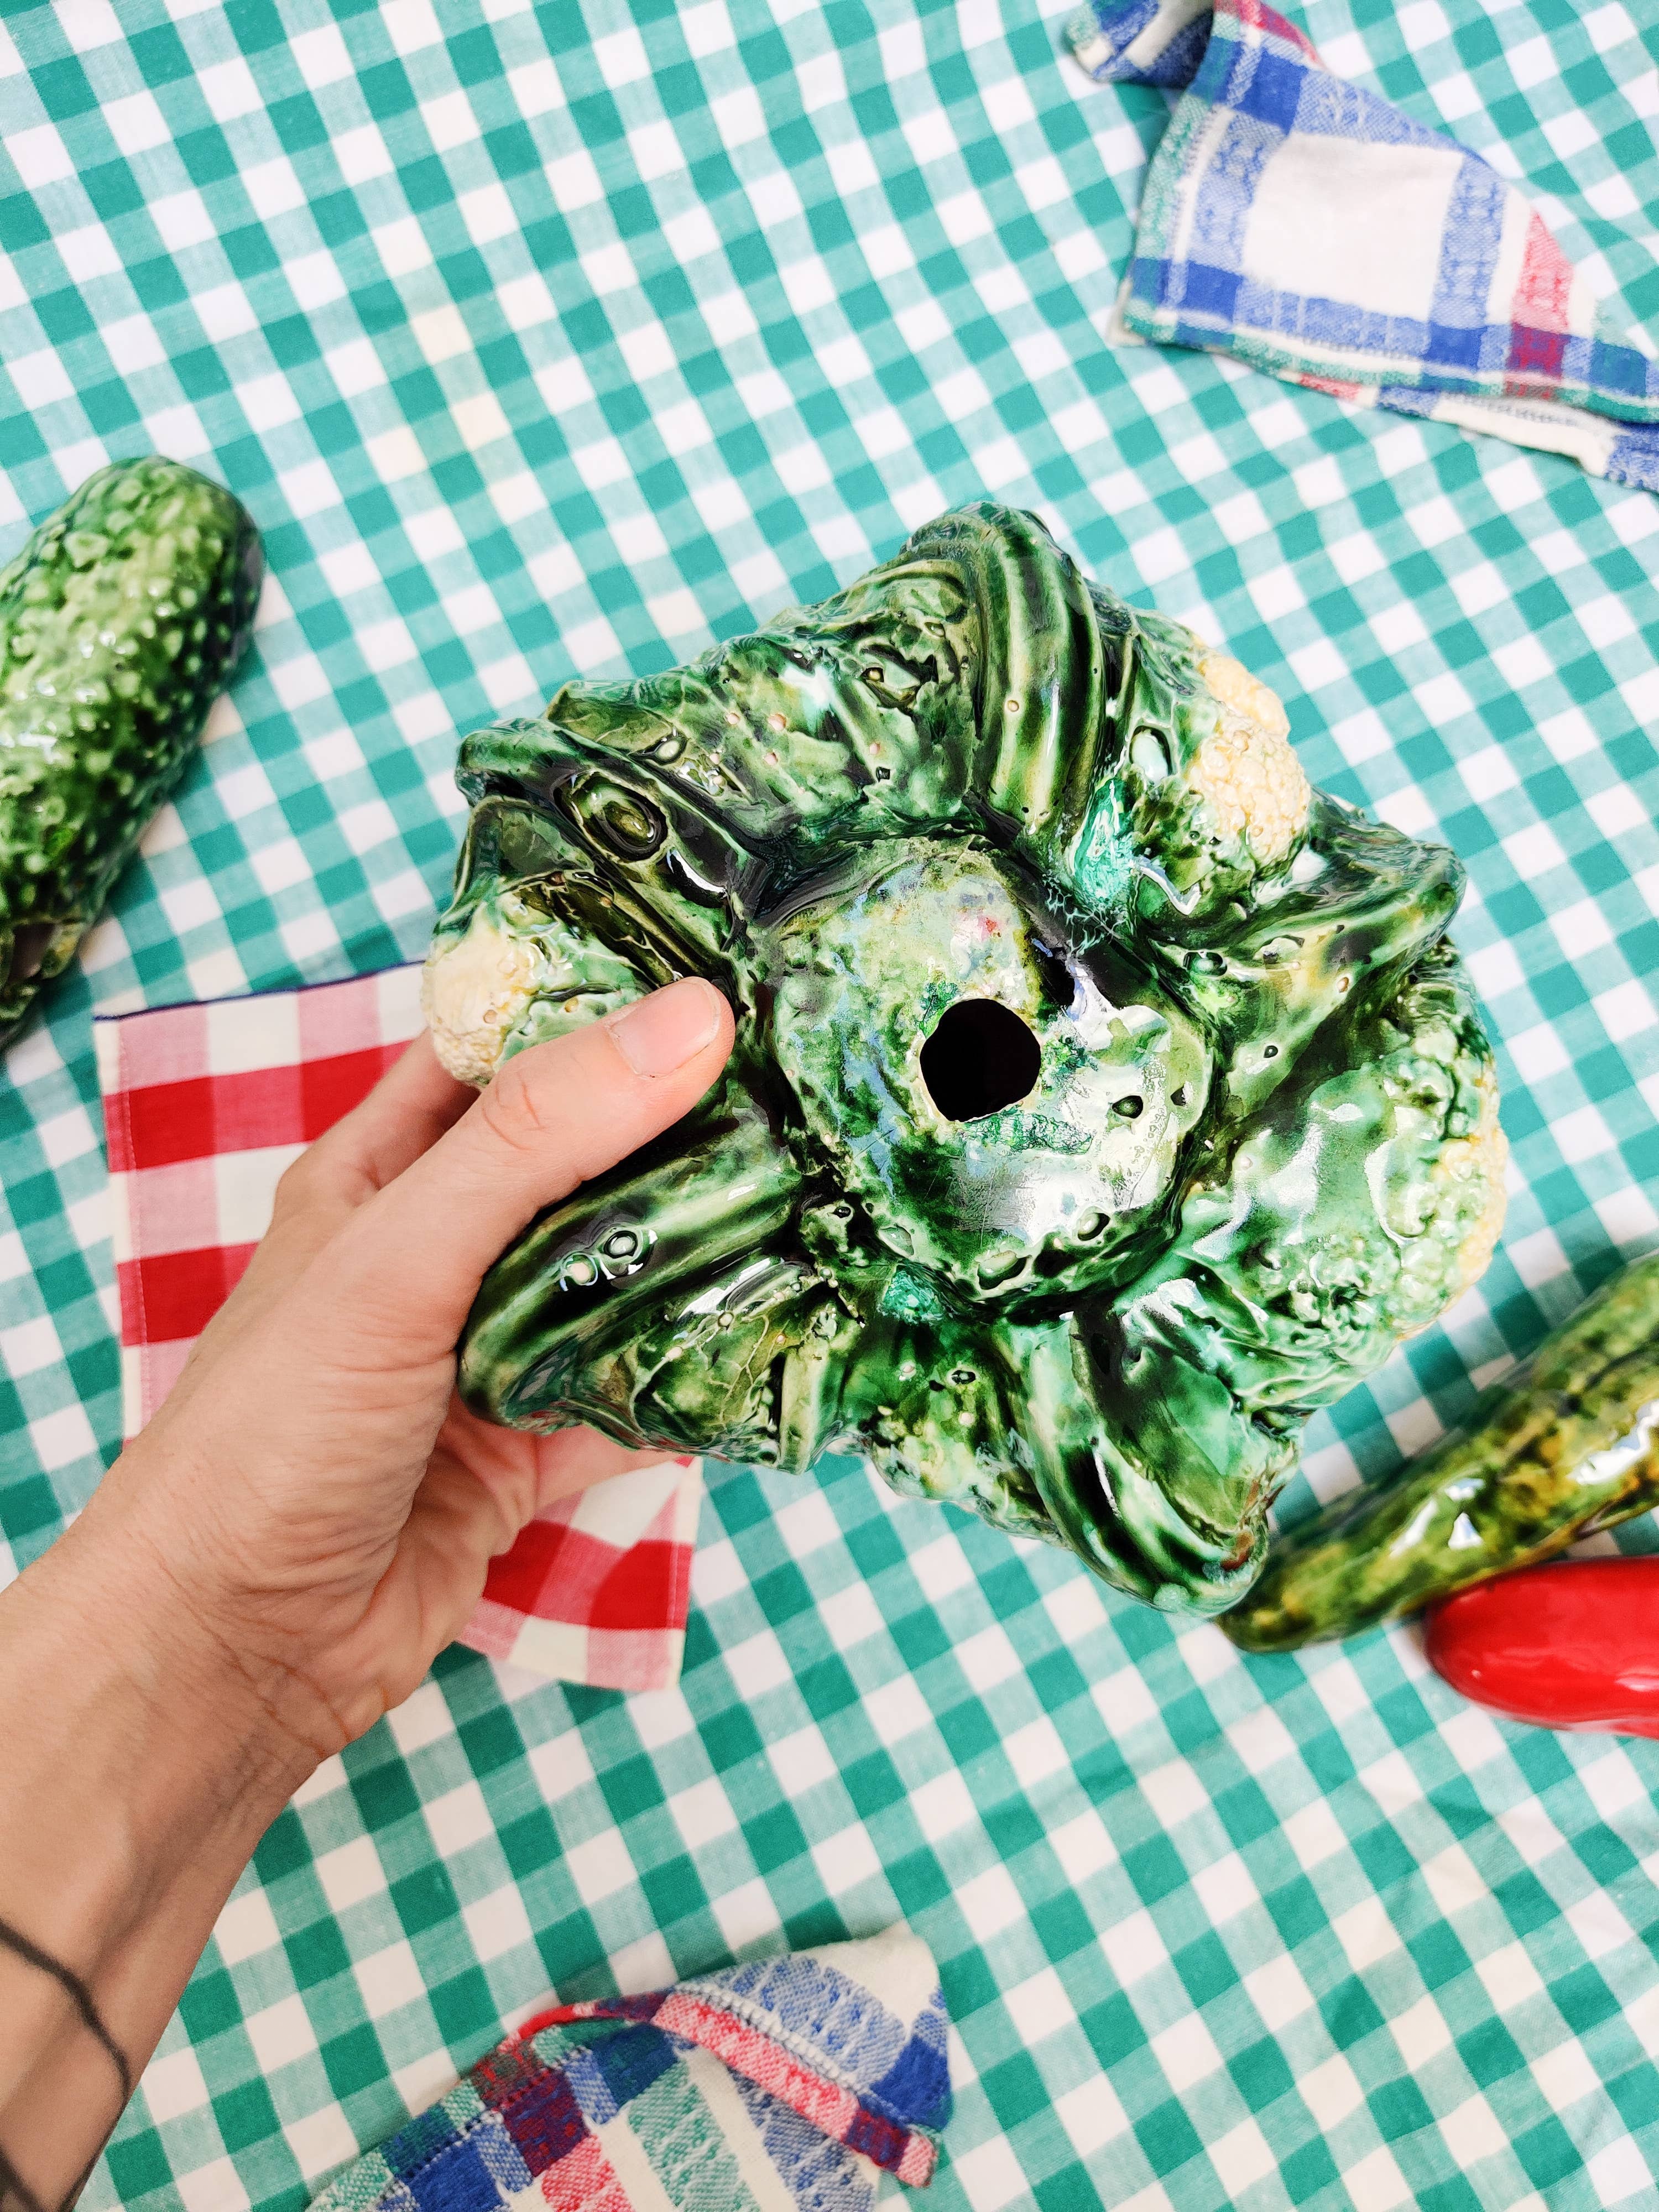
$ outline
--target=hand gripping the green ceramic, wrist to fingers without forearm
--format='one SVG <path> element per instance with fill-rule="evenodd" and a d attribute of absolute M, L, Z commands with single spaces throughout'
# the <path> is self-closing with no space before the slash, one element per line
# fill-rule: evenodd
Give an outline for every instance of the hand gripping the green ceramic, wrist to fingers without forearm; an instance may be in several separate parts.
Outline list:
<path fill-rule="evenodd" d="M 677 1121 L 730 1040 L 699 980 L 520 1053 L 482 1095 L 416 1040 L 288 1170 L 243 1281 L 71 1531 L 148 1562 L 181 1663 L 221 1668 L 312 1761 L 416 1688 L 538 1511 L 641 1458 L 478 1420 L 456 1338 L 502 1248 Z"/>

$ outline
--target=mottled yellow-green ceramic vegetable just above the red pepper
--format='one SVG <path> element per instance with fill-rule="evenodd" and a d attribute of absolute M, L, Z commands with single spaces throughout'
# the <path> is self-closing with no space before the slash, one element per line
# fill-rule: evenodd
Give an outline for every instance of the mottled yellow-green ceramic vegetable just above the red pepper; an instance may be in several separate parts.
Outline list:
<path fill-rule="evenodd" d="M 1252 1652 L 1352 1637 L 1659 1504 L 1659 1254 L 1588 1298 L 1402 1482 L 1267 1551 L 1221 1626 Z"/>

